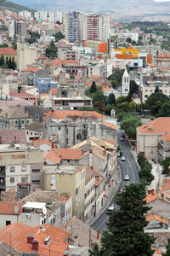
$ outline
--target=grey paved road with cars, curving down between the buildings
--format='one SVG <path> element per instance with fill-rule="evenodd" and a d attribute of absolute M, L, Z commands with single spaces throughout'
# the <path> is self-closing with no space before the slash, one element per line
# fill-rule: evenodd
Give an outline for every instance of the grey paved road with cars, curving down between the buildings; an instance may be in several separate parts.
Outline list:
<path fill-rule="evenodd" d="M 126 158 L 126 161 L 121 161 L 121 159 L 118 158 L 118 162 L 122 166 L 122 184 L 120 189 L 123 189 L 125 185 L 129 185 L 130 183 L 139 183 L 138 167 L 133 160 L 127 140 L 125 142 L 120 141 L 122 134 L 123 132 L 119 130 L 117 135 L 117 143 L 119 147 L 121 147 L 122 155 Z M 126 174 L 129 176 L 129 181 L 124 181 L 123 179 Z M 105 214 L 105 212 L 103 212 L 100 217 L 96 219 L 94 224 L 91 225 L 91 227 L 94 228 L 94 230 L 99 230 L 100 233 L 103 233 L 103 231 L 106 230 L 106 222 L 108 221 L 108 218 L 109 217 Z"/>

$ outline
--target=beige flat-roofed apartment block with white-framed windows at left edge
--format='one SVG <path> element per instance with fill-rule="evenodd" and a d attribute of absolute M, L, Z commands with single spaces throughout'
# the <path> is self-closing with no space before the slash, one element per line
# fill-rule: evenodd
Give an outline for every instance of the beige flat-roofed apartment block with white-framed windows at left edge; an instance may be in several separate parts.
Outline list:
<path fill-rule="evenodd" d="M 40 149 L 26 144 L 1 144 L 0 154 L 0 191 L 16 190 L 18 183 L 30 183 L 32 189 L 42 188 Z"/>

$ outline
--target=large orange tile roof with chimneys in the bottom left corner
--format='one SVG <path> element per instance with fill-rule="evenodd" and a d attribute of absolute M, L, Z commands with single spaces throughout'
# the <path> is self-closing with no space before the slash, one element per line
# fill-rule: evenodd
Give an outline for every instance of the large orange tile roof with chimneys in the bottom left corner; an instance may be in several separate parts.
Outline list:
<path fill-rule="evenodd" d="M 65 241 L 70 236 L 70 233 L 65 233 L 65 230 L 60 230 L 49 224 L 43 224 L 42 229 L 40 229 L 40 227 L 41 226 L 31 227 L 15 222 L 14 224 L 4 227 L 3 230 L 0 230 L 0 241 L 6 242 L 18 252 L 35 253 L 35 251 L 32 250 L 32 245 L 27 243 L 27 236 L 31 235 L 38 241 L 39 256 L 48 255 L 49 252 L 53 256 L 64 255 L 65 250 L 69 249 L 68 243 Z M 50 236 L 50 246 L 44 245 L 47 232 L 48 236 Z"/>

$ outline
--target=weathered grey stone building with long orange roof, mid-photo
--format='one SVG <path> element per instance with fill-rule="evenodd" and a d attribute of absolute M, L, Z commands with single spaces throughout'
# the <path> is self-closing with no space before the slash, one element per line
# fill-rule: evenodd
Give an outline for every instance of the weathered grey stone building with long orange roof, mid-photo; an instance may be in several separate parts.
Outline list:
<path fill-rule="evenodd" d="M 56 110 L 49 112 L 43 122 L 43 137 L 53 140 L 57 148 L 71 148 L 88 136 L 114 140 L 117 134 L 117 126 L 94 111 Z"/>

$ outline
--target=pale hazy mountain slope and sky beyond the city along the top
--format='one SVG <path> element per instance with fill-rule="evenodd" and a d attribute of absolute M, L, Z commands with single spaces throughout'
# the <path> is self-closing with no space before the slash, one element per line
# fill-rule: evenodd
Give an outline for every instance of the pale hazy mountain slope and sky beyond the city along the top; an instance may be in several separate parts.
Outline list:
<path fill-rule="evenodd" d="M 86 13 L 104 13 L 112 15 L 115 20 L 155 20 L 158 17 L 170 19 L 170 2 L 155 2 L 153 0 L 11 0 L 14 3 L 25 3 L 35 9 L 62 11 L 77 10 Z"/>

